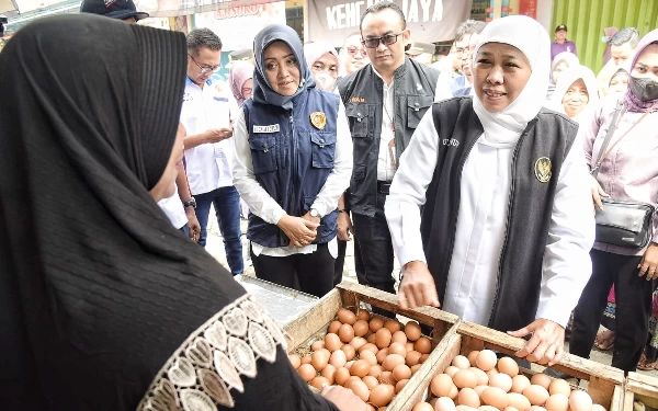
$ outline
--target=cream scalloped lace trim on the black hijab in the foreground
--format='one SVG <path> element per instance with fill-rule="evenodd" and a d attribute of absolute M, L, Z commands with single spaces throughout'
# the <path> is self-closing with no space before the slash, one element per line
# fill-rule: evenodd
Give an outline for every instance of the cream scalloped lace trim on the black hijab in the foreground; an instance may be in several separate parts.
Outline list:
<path fill-rule="evenodd" d="M 250 295 L 245 295 L 194 331 L 173 353 L 139 402 L 138 411 L 216 411 L 232 408 L 230 389 L 245 392 L 257 361 L 274 363 L 284 331 Z"/>

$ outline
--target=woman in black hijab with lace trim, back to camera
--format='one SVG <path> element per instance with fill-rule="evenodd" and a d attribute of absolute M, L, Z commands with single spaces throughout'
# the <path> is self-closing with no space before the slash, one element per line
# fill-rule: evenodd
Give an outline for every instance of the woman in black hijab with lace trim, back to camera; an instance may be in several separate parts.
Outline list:
<path fill-rule="evenodd" d="M 180 33 L 93 15 L 0 54 L 2 410 L 337 409 L 154 201 L 181 158 L 185 54 Z M 326 397 L 365 409 L 345 392 Z"/>

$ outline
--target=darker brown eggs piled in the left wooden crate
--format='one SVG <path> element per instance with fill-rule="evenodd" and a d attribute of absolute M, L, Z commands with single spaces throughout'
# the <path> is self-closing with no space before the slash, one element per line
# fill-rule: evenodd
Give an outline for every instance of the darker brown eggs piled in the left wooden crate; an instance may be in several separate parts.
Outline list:
<path fill-rule="evenodd" d="M 432 343 L 421 335 L 418 322 L 402 326 L 397 320 L 371 319 L 367 310 L 355 315 L 341 308 L 325 339 L 310 349 L 310 355 L 288 355 L 304 380 L 317 389 L 343 386 L 368 410 L 384 411 L 428 358 Z"/>

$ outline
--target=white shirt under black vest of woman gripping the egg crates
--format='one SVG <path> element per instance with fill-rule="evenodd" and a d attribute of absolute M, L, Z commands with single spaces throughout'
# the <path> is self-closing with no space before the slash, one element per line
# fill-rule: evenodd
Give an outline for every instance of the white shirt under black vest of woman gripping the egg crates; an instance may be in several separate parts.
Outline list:
<path fill-rule="evenodd" d="M 385 212 L 401 266 L 426 262 L 420 236 L 420 206 L 436 167 L 439 135 L 428 112 L 400 159 Z M 487 324 L 504 241 L 511 183 L 512 145 L 491 144 L 481 136 L 462 174 L 455 244 L 442 308 L 467 321 Z M 565 327 L 591 274 L 589 250 L 594 221 L 585 159 L 574 142 L 556 187 L 542 286 L 535 318 Z M 554 176 L 555 178 L 555 176 Z"/>

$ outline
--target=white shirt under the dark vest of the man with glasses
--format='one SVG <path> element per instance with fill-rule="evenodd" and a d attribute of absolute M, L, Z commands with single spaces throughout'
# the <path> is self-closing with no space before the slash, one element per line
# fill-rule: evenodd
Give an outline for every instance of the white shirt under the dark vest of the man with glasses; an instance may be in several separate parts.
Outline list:
<path fill-rule="evenodd" d="M 395 118 L 395 79 L 390 80 L 390 84 L 386 84 L 386 80 L 375 70 L 373 66 L 373 71 L 377 77 L 379 77 L 384 83 L 382 85 L 382 100 L 384 101 L 384 105 L 382 107 L 382 133 L 379 135 L 379 155 L 377 157 L 377 180 L 378 181 L 390 181 L 395 175 L 395 171 L 397 169 L 395 161 L 395 144 L 393 140 L 395 138 L 395 132 L 393 130 L 393 124 Z M 434 89 L 434 101 L 441 101 L 445 99 L 452 98 L 452 92 L 450 91 L 450 83 L 447 82 L 447 76 L 439 75 L 439 79 L 436 80 L 436 88 Z M 402 107 L 405 109 L 405 107 Z M 406 109 L 405 109 L 406 110 Z"/>

